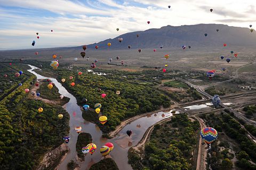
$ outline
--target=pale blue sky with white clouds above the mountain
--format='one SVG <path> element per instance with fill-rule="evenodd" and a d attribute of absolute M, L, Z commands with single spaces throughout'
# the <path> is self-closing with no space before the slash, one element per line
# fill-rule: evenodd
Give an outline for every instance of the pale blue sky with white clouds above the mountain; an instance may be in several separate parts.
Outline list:
<path fill-rule="evenodd" d="M 80 46 L 131 31 L 199 23 L 256 28 L 256 1 L 0 0 L 0 50 Z"/>

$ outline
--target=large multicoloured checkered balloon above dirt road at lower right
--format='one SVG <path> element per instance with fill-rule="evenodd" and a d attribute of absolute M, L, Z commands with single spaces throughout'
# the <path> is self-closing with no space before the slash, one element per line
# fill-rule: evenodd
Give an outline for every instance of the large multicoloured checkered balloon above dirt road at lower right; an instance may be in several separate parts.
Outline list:
<path fill-rule="evenodd" d="M 211 144 L 218 137 L 218 132 L 212 127 L 203 128 L 200 134 L 204 142 L 207 144 Z"/>

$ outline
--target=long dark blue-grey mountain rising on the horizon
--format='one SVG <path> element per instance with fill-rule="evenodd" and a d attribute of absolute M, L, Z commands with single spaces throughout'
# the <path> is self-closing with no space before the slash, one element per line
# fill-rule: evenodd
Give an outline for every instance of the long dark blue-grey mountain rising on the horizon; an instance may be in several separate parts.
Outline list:
<path fill-rule="evenodd" d="M 219 29 L 217 32 L 216 30 Z M 139 37 L 137 38 L 137 34 Z M 205 37 L 204 34 L 207 34 Z M 121 43 L 118 38 L 123 38 Z M 232 46 L 256 46 L 256 31 L 251 33 L 249 28 L 230 27 L 220 24 L 199 24 L 185 26 L 165 26 L 159 29 L 148 29 L 145 31 L 135 31 L 106 39 L 105 41 L 87 45 L 94 48 L 106 50 L 107 43 L 111 43 L 111 50 L 124 49 L 128 45 L 132 48 L 158 48 L 181 47 L 183 44 L 193 47 L 220 47 L 223 43 Z M 82 49 L 82 46 L 77 48 Z"/>

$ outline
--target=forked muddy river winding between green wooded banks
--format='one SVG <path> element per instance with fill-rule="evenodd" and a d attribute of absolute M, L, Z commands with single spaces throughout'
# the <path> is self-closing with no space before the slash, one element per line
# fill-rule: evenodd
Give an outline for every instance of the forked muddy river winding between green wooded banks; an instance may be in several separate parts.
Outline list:
<path fill-rule="evenodd" d="M 34 69 L 39 69 L 37 67 L 31 66 L 28 71 L 32 74 L 36 75 L 37 79 L 47 79 L 49 77 L 44 77 L 37 74 Z M 107 142 L 112 142 L 114 144 L 114 149 L 111 151 L 110 156 L 113 158 L 119 169 L 129 170 L 132 169 L 131 165 L 128 164 L 127 151 L 129 148 L 137 145 L 138 142 L 142 139 L 143 134 L 145 134 L 146 130 L 155 123 L 163 120 L 165 118 L 171 117 L 172 110 L 168 112 L 158 112 L 157 114 L 152 114 L 150 116 L 141 117 L 134 122 L 126 125 L 116 137 L 113 139 L 106 139 L 101 137 L 102 132 L 98 125 L 90 123 L 83 119 L 81 108 L 77 105 L 77 101 L 75 96 L 70 94 L 65 87 L 61 85 L 55 78 L 50 78 L 51 82 L 55 84 L 58 88 L 59 93 L 63 96 L 68 97 L 70 100 L 67 103 L 66 110 L 70 115 L 69 126 L 70 132 L 67 134 L 70 137 L 70 141 L 68 143 L 69 151 L 67 153 L 66 158 L 61 162 L 59 169 L 65 170 L 67 169 L 67 164 L 70 160 L 74 160 L 77 162 L 77 152 L 76 152 L 76 141 L 78 134 L 75 131 L 75 126 L 81 126 L 82 132 L 90 133 L 92 135 L 92 142 L 97 145 L 97 150 L 93 153 L 93 155 L 87 154 L 85 156 L 85 160 L 82 163 L 78 163 L 81 166 L 81 169 L 89 169 L 90 166 L 94 163 L 97 163 L 102 159 L 100 153 L 100 147 Z M 73 114 L 73 113 L 76 114 Z M 176 112 L 178 113 L 178 112 Z M 131 129 L 133 131 L 132 135 L 129 137 L 126 135 L 126 131 Z M 84 143 L 86 146 L 88 143 Z M 82 148 L 81 148 L 82 149 Z"/>

